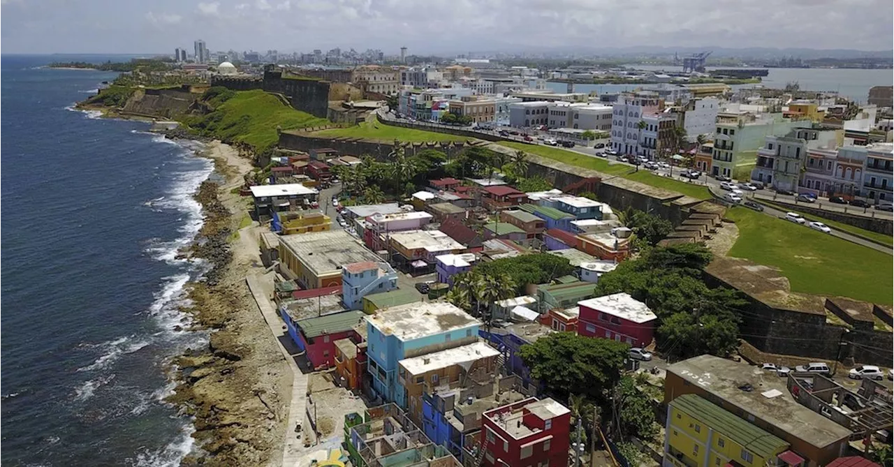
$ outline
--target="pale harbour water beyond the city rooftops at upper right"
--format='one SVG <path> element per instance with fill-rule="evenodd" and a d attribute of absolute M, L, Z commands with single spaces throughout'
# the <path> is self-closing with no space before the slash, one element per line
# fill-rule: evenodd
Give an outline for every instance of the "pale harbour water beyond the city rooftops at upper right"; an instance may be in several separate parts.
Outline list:
<path fill-rule="evenodd" d="M 679 67 L 628 65 L 639 70 L 679 71 Z M 710 70 L 712 67 L 708 67 Z M 894 70 L 851 70 L 827 68 L 771 68 L 759 86 L 764 88 L 785 88 L 791 82 L 797 82 L 801 89 L 812 91 L 837 91 L 840 96 L 848 97 L 858 103 L 865 104 L 869 98 L 869 88 L 873 86 L 894 85 Z M 556 92 L 565 92 L 565 83 L 548 83 L 548 88 Z M 575 92 L 596 91 L 600 94 L 632 91 L 645 85 L 623 84 L 576 84 Z M 737 85 L 732 88 L 751 88 L 755 85 Z"/>

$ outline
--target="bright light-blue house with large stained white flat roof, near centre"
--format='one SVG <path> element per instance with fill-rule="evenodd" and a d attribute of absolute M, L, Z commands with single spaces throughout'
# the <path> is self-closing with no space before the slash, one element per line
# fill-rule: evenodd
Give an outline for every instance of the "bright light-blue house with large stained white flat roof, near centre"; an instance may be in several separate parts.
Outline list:
<path fill-rule="evenodd" d="M 406 408 L 398 362 L 474 343 L 480 325 L 447 302 L 402 304 L 367 316 L 367 371 L 375 395 Z"/>

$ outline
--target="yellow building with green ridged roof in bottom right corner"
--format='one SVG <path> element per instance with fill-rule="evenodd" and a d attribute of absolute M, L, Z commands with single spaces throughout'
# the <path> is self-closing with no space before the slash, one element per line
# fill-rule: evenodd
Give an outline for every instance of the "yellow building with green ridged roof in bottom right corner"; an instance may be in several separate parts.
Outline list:
<path fill-rule="evenodd" d="M 666 428 L 665 466 L 765 467 L 780 464 L 777 456 L 789 448 L 784 439 L 695 394 L 668 404 Z"/>

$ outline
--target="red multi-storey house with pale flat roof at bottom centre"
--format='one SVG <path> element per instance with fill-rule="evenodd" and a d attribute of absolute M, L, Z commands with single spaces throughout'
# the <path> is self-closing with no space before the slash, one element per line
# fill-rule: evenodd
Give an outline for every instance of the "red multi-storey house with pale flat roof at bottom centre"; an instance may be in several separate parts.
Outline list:
<path fill-rule="evenodd" d="M 571 412 L 546 398 L 530 397 L 484 413 L 482 465 L 568 465 Z"/>

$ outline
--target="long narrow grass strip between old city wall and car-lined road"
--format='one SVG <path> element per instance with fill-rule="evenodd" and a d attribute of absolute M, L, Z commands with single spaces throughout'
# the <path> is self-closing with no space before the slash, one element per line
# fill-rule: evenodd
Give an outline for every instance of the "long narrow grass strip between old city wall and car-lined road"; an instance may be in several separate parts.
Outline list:
<path fill-rule="evenodd" d="M 566 151 L 565 149 L 558 147 L 527 145 L 515 141 L 502 141 L 500 145 L 511 147 L 513 149 L 521 149 L 527 153 L 540 155 L 547 159 L 552 159 L 553 161 L 559 161 L 569 165 L 577 165 L 578 167 L 601 171 L 609 175 L 618 175 L 624 179 L 635 180 L 655 188 L 669 189 L 697 199 L 709 199 L 711 197 L 711 194 L 708 193 L 708 189 L 702 186 L 679 181 L 678 179 L 655 175 L 651 171 L 643 169 L 630 173 L 630 166 L 621 163 L 609 163 L 607 159 L 600 157 L 592 157 L 586 154 Z"/>

